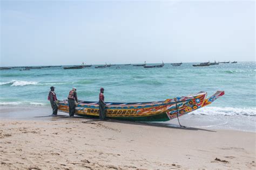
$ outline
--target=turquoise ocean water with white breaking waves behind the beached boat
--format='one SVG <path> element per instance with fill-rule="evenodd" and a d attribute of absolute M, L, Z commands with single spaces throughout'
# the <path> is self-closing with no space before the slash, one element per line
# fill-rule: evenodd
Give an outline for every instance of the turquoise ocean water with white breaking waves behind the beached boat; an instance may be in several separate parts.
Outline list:
<path fill-rule="evenodd" d="M 206 119 L 207 122 L 218 117 L 219 122 L 214 124 L 222 120 L 225 123 L 227 117 L 232 117 L 239 119 L 240 124 L 245 120 L 244 123 L 250 125 L 247 128 L 235 125 L 234 129 L 255 131 L 256 62 L 220 63 L 208 67 L 193 67 L 192 64 L 173 67 L 165 63 L 163 68 L 116 65 L 98 69 L 92 66 L 0 70 L 0 105 L 50 107 L 47 96 L 51 86 L 56 87 L 58 100 L 66 99 L 69 90 L 76 87 L 79 100 L 85 101 L 98 101 L 99 89 L 104 87 L 105 101 L 110 102 L 162 101 L 199 91 L 207 91 L 211 96 L 217 90 L 224 90 L 223 97 L 184 116 L 184 120 Z"/>

